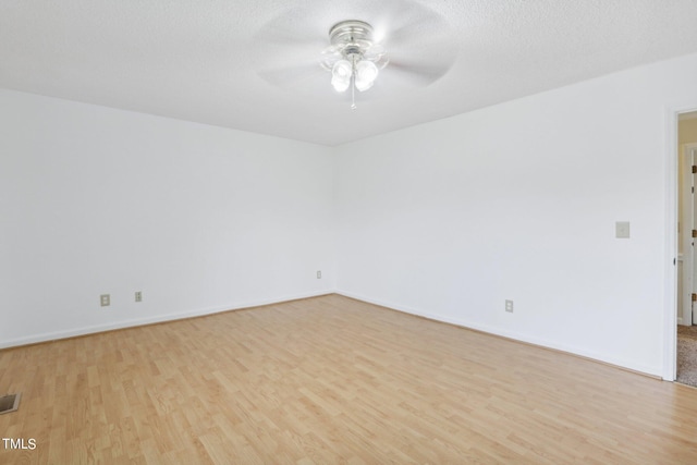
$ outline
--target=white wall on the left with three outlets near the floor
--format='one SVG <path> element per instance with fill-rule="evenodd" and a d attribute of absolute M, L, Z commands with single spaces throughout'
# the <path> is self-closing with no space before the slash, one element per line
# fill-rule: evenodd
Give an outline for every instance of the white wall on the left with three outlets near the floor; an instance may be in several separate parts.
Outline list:
<path fill-rule="evenodd" d="M 0 90 L 0 346 L 332 291 L 329 150 Z"/>

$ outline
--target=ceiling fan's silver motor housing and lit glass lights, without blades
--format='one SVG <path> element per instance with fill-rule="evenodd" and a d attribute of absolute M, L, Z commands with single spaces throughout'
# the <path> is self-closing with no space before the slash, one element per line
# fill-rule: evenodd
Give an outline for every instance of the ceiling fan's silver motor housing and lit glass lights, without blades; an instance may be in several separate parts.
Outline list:
<path fill-rule="evenodd" d="M 351 108 L 355 109 L 355 89 L 368 90 L 379 71 L 388 64 L 382 46 L 375 44 L 372 26 L 363 21 L 342 21 L 329 29 L 329 46 L 322 52 L 321 65 L 331 71 L 331 85 L 339 93 L 352 90 Z"/>

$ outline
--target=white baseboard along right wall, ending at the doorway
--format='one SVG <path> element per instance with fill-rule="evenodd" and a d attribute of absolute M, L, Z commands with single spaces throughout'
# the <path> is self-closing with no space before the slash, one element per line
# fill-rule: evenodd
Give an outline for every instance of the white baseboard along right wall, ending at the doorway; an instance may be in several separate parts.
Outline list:
<path fill-rule="evenodd" d="M 616 366 L 619 368 L 624 368 L 624 369 L 627 369 L 627 370 L 632 370 L 632 371 L 636 371 L 636 372 L 639 372 L 639 374 L 643 374 L 643 375 L 647 375 L 647 376 L 650 376 L 652 378 L 656 378 L 656 377 L 661 378 L 661 374 L 658 372 L 655 368 L 643 366 L 643 365 L 637 365 L 635 363 L 631 363 L 628 360 L 624 360 L 624 359 L 615 358 L 615 357 L 612 357 L 612 356 L 608 356 L 606 354 L 599 354 L 599 353 L 595 353 L 592 351 L 587 351 L 587 350 L 583 350 L 583 348 L 578 348 L 578 347 L 573 347 L 573 346 L 560 344 L 557 341 L 543 340 L 543 339 L 530 336 L 530 335 L 527 335 L 527 334 L 517 333 L 517 332 L 514 332 L 514 331 L 502 330 L 500 328 L 491 327 L 491 326 L 488 326 L 488 325 L 481 325 L 481 323 L 467 321 L 467 320 L 462 320 L 462 319 L 454 319 L 454 318 L 450 318 L 450 317 L 445 317 L 445 316 L 437 315 L 437 314 L 429 314 L 429 313 L 420 311 L 420 310 L 418 310 L 416 308 L 411 308 L 411 307 L 393 304 L 393 303 L 386 302 L 386 301 L 379 301 L 379 299 L 366 297 L 364 295 L 355 294 L 355 293 L 352 293 L 352 292 L 337 291 L 335 293 L 339 294 L 339 295 L 343 295 L 345 297 L 351 297 L 351 298 L 355 298 L 357 301 L 367 302 L 369 304 L 380 305 L 382 307 L 387 307 L 387 308 L 390 308 L 390 309 L 393 309 L 393 310 L 403 311 L 405 314 L 416 315 L 416 316 L 428 318 L 428 319 L 431 319 L 431 320 L 435 320 L 435 321 L 447 322 L 447 323 L 450 323 L 450 325 L 455 325 L 455 326 L 458 326 L 458 327 L 468 328 L 468 329 L 486 332 L 486 333 L 489 333 L 489 334 L 500 335 L 502 338 L 511 339 L 511 340 L 518 341 L 518 342 L 524 342 L 526 344 L 537 345 L 537 346 L 540 346 L 540 347 L 552 348 L 554 351 L 564 352 L 564 353 L 572 354 L 572 355 L 577 355 L 577 356 L 580 356 L 580 357 L 584 357 L 584 358 L 590 358 L 592 360 L 601 362 L 603 364 L 614 365 L 614 366 Z"/>

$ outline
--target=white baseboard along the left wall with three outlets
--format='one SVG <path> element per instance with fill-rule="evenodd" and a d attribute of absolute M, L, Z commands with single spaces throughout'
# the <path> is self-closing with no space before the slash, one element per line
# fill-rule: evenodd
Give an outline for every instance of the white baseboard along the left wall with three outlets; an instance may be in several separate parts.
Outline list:
<path fill-rule="evenodd" d="M 333 290 L 329 290 L 329 291 L 308 293 L 308 294 L 286 295 L 286 296 L 276 297 L 276 298 L 266 298 L 266 299 L 259 299 L 259 301 L 249 301 L 249 302 L 244 302 L 244 303 L 236 303 L 236 304 L 231 304 L 231 305 L 221 305 L 221 306 L 216 306 L 216 307 L 197 308 L 197 309 L 193 309 L 193 310 L 188 310 L 188 311 L 181 311 L 181 313 L 176 313 L 176 314 L 157 315 L 157 316 L 149 317 L 149 318 L 146 317 L 146 318 L 138 318 L 138 319 L 133 319 L 133 320 L 118 321 L 118 322 L 107 323 L 107 325 L 96 325 L 96 326 L 90 326 L 90 327 L 75 328 L 75 329 L 71 329 L 71 330 L 66 330 L 66 331 L 47 332 L 47 333 L 35 334 L 35 335 L 30 335 L 30 336 L 26 336 L 26 338 L 17 338 L 17 339 L 11 339 L 11 340 L 7 340 L 7 341 L 0 341 L 0 348 L 9 348 L 9 347 L 16 347 L 16 346 L 21 346 L 21 345 L 37 344 L 37 343 L 40 343 L 40 342 L 56 341 L 56 340 L 59 340 L 59 339 L 75 338 L 75 336 L 80 336 L 80 335 L 95 334 L 95 333 L 105 332 L 105 331 L 113 331 L 113 330 L 118 330 L 118 329 L 133 328 L 133 327 L 152 325 L 152 323 L 160 323 L 160 322 L 166 322 L 166 321 L 175 321 L 175 320 L 181 320 L 181 319 L 185 319 L 185 318 L 201 317 L 201 316 L 206 316 L 206 315 L 219 314 L 219 313 L 222 313 L 222 311 L 242 310 L 242 309 L 245 309 L 245 308 L 260 307 L 260 306 L 264 306 L 264 305 L 280 304 L 280 303 L 283 303 L 283 302 L 297 301 L 297 299 L 301 299 L 301 298 L 318 297 L 320 295 L 328 295 L 328 294 L 333 294 L 333 293 L 334 293 Z"/>

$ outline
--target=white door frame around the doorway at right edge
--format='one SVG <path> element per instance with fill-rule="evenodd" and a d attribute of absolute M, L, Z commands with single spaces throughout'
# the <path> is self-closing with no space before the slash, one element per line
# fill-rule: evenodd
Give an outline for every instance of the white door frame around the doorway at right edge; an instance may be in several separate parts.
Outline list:
<path fill-rule="evenodd" d="M 677 376 L 677 183 L 681 152 L 677 131 L 682 113 L 697 111 L 697 101 L 664 109 L 665 142 L 665 261 L 663 278 L 663 374 L 667 381 Z"/>

